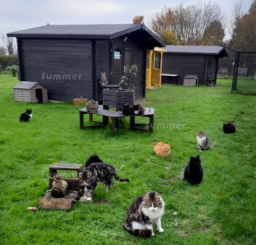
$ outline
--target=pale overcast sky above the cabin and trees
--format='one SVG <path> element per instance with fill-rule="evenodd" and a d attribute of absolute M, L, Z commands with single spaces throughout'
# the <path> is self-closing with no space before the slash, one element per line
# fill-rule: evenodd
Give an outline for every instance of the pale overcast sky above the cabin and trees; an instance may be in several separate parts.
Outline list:
<path fill-rule="evenodd" d="M 200 2 L 202 2 L 201 0 Z M 228 18 L 237 0 L 218 3 Z M 239 0 L 238 0 L 239 1 Z M 253 0 L 242 1 L 248 13 Z M 207 3 L 208 0 L 205 0 Z M 0 0 L 0 34 L 49 25 L 132 24 L 135 16 L 150 19 L 164 6 L 196 5 L 198 0 Z M 204 2 L 203 2 L 204 3 Z M 4 45 L 0 40 L 0 46 Z"/>

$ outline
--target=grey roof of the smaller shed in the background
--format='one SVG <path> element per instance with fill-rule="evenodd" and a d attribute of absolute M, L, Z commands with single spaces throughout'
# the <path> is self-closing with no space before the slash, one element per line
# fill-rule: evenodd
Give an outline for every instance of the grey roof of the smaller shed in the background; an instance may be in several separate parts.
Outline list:
<path fill-rule="evenodd" d="M 223 47 L 220 46 L 181 46 L 181 45 L 166 45 L 166 53 L 170 54 L 206 54 L 218 55 L 220 57 L 227 57 L 228 54 Z"/>

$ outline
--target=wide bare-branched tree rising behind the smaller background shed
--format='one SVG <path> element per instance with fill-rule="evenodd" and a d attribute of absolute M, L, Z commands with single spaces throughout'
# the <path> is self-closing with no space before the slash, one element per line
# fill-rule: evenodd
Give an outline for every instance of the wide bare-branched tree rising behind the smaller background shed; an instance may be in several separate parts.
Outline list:
<path fill-rule="evenodd" d="M 226 26 L 225 14 L 217 3 L 201 3 L 197 5 L 166 7 L 152 18 L 152 30 L 164 39 L 164 30 L 173 32 L 176 44 L 201 45 L 204 40 L 205 30 L 213 22 Z"/>

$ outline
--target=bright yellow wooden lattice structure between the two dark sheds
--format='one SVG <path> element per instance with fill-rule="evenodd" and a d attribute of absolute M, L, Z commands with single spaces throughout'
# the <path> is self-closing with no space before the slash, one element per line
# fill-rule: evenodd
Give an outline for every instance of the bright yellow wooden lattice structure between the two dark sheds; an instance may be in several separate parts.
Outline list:
<path fill-rule="evenodd" d="M 155 47 L 146 53 L 146 88 L 161 87 L 162 58 L 165 50 Z"/>

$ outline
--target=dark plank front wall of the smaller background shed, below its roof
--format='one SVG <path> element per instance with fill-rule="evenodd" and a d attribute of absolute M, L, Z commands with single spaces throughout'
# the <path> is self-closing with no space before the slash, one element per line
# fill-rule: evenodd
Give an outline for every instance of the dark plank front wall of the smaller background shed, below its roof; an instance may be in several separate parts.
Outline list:
<path fill-rule="evenodd" d="M 205 55 L 163 53 L 162 73 L 177 74 L 177 84 L 183 85 L 186 75 L 197 75 L 199 84 L 204 83 L 205 69 Z"/>

